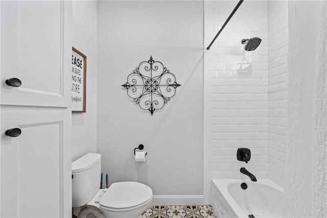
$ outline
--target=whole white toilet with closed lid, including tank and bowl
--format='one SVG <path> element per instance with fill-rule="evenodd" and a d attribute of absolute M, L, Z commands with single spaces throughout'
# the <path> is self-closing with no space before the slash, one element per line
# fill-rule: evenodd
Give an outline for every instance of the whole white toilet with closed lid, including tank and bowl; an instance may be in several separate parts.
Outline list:
<path fill-rule="evenodd" d="M 116 182 L 100 189 L 101 155 L 88 153 L 72 163 L 72 203 L 78 218 L 139 218 L 152 201 L 152 190 L 138 182 Z"/>

